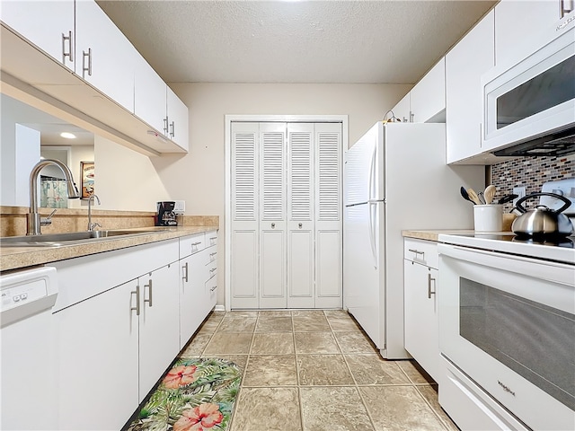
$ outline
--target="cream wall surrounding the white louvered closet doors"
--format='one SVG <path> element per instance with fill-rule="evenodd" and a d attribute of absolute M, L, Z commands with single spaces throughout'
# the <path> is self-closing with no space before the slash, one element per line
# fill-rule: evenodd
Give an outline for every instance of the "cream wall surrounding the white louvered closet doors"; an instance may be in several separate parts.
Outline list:
<path fill-rule="evenodd" d="M 353 145 L 411 85 L 393 84 L 171 84 L 190 110 L 190 153 L 152 158 L 172 199 L 186 201 L 187 215 L 220 216 L 225 238 L 225 116 L 348 115 Z M 96 151 L 97 153 L 97 151 Z M 97 168 L 99 169 L 99 168 Z M 98 177 L 102 174 L 97 172 Z M 103 204 L 103 203 L 102 203 Z M 116 208 L 118 209 L 118 208 Z M 224 245 L 218 252 L 218 286 L 225 286 Z M 224 288 L 218 289 L 224 304 Z"/>

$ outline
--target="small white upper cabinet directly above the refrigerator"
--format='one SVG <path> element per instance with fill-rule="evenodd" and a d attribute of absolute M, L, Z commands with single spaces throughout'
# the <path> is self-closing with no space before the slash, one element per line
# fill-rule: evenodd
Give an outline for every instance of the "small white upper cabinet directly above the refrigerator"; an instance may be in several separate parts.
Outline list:
<path fill-rule="evenodd" d="M 442 57 L 420 79 L 411 92 L 394 106 L 394 116 L 403 123 L 442 123 L 446 109 L 446 62 Z"/>

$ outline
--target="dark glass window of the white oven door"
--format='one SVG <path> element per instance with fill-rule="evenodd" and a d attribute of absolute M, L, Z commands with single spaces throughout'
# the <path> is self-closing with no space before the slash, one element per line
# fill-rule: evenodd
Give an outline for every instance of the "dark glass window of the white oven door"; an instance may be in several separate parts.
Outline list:
<path fill-rule="evenodd" d="M 575 410 L 575 315 L 459 280 L 460 335 Z"/>

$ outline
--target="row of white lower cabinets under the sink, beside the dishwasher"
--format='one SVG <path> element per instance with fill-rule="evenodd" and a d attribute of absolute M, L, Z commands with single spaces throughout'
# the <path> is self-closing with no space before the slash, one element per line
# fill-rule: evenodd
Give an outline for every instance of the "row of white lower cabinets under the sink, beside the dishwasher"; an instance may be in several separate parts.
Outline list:
<path fill-rule="evenodd" d="M 204 233 L 199 236 L 203 244 Z M 187 296 L 181 295 L 181 247 L 194 262 Z M 59 286 L 53 309 L 58 429 L 121 429 L 136 411 L 178 355 L 181 339 L 190 339 L 213 308 L 206 283 L 216 245 L 190 254 L 200 247 L 173 239 L 50 264 Z M 181 328 L 192 329 L 181 336 Z"/>

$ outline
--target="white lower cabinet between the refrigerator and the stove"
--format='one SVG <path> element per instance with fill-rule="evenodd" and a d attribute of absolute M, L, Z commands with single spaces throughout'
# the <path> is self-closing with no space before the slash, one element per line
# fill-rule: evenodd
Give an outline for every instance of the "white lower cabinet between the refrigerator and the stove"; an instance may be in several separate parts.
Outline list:
<path fill-rule="evenodd" d="M 439 382 L 445 366 L 439 353 L 437 243 L 404 240 L 405 349 Z"/>

